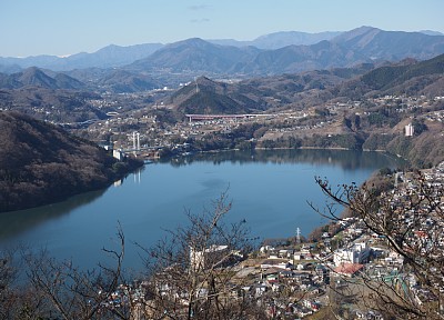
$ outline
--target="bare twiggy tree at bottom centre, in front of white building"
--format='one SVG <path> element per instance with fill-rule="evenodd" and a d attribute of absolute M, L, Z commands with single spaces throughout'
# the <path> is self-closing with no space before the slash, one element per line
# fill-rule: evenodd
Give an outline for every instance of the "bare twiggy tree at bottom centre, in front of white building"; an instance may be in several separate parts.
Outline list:
<path fill-rule="evenodd" d="M 260 308 L 242 293 L 235 266 L 250 249 L 244 221 L 225 223 L 225 194 L 203 214 L 188 212 L 189 224 L 169 231 L 145 250 L 151 271 L 150 319 L 261 319 Z"/>

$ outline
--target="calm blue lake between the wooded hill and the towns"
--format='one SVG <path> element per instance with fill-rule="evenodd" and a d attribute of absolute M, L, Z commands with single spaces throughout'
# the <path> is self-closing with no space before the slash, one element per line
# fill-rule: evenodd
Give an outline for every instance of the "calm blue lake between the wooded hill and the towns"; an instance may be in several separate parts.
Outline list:
<path fill-rule="evenodd" d="M 252 238 L 307 236 L 325 219 L 307 201 L 323 206 L 314 177 L 334 186 L 362 183 L 372 172 L 403 163 L 379 152 L 344 150 L 226 151 L 147 164 L 108 189 L 31 210 L 0 213 L 0 250 L 19 244 L 46 248 L 85 268 L 115 248 L 119 223 L 127 240 L 125 266 L 142 266 L 134 242 L 151 247 L 186 223 L 185 210 L 211 209 L 226 191 L 230 221 L 246 221 Z"/>

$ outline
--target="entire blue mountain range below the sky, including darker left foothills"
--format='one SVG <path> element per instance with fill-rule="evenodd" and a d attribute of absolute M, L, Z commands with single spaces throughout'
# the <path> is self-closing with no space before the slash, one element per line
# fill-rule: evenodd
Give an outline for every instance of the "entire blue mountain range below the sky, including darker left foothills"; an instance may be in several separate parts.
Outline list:
<path fill-rule="evenodd" d="M 159 43 L 131 47 L 109 46 L 95 53 L 58 58 L 59 62 L 52 66 L 52 69 L 43 69 L 51 67 L 48 56 L 20 60 L 26 63 L 41 62 L 38 68 L 30 67 L 26 70 L 4 64 L 12 58 L 0 58 L 0 64 L 3 63 L 0 71 L 9 70 L 9 72 L 0 73 L 0 89 L 34 86 L 54 90 L 88 89 L 124 93 L 165 86 L 178 87 L 201 76 L 211 79 L 273 77 L 361 64 L 377 67 L 407 58 L 426 60 L 444 53 L 444 36 L 383 31 L 372 27 L 361 27 L 337 36 L 333 32 L 315 33 L 310 37 L 300 32 L 279 32 L 258 38 L 255 41 L 259 43 L 268 39 L 266 41 L 271 43 L 274 39 L 275 43 L 286 41 L 286 44 L 290 40 L 285 39 L 293 39 L 292 37 L 295 39 L 294 42 L 315 41 L 314 39 L 329 37 L 330 40 L 269 50 L 253 46 L 222 46 L 199 38 L 167 46 Z M 70 64 L 71 62 L 73 64 Z M 121 66 L 107 67 L 115 64 Z M 95 67 L 58 71 L 58 68 L 68 68 L 68 66 Z M 16 71 L 11 73 L 11 70 Z"/>

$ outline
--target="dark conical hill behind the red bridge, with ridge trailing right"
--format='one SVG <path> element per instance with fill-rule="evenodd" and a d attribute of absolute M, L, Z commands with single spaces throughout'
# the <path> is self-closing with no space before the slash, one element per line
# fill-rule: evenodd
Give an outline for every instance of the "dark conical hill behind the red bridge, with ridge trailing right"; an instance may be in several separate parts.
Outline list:
<path fill-rule="evenodd" d="M 179 112 L 199 114 L 252 113 L 285 104 L 295 107 L 292 103 L 301 100 L 300 93 L 304 92 L 307 97 L 313 93 L 322 98 L 320 92 L 324 92 L 327 93 L 325 99 L 331 98 L 326 89 L 335 88 L 373 68 L 367 63 L 355 68 L 305 71 L 230 83 L 200 77 L 175 91 L 169 104 Z"/>

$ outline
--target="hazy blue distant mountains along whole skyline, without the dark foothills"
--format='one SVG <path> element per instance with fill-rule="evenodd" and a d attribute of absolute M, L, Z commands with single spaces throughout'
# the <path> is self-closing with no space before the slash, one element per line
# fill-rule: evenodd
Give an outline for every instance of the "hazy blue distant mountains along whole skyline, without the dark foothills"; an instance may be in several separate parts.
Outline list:
<path fill-rule="evenodd" d="M 385 59 L 390 61 L 401 60 L 406 57 L 428 59 L 444 53 L 443 37 L 442 33 L 435 31 L 383 31 L 373 27 L 361 27 L 347 32 L 274 32 L 259 37 L 252 41 L 236 41 L 231 39 L 205 41 L 200 39 L 206 43 L 220 46 L 219 51 L 226 54 L 226 59 L 216 56 L 213 57 L 213 61 L 210 62 L 205 54 L 211 54 L 211 52 L 205 54 L 200 53 L 201 59 L 203 59 L 203 64 L 206 63 L 206 66 L 203 66 L 205 68 L 196 66 L 200 62 L 198 58 L 195 58 L 194 61 L 191 60 L 191 64 L 186 66 L 188 61 L 190 61 L 190 57 L 185 57 L 183 53 L 181 53 L 180 57 L 174 56 L 173 51 L 183 44 L 189 44 L 191 48 L 190 54 L 193 53 L 192 50 L 195 50 L 195 43 L 193 43 L 196 41 L 195 39 L 188 39 L 167 46 L 162 43 L 145 43 L 129 47 L 111 44 L 93 53 L 82 52 L 65 58 L 54 56 L 28 58 L 0 57 L 0 72 L 13 73 L 20 71 L 20 68 L 29 67 L 38 67 L 53 71 L 69 71 L 87 68 L 120 68 L 132 63 L 137 66 L 140 62 L 135 61 L 144 60 L 144 62 L 140 64 L 151 66 L 158 70 L 162 68 L 168 69 L 170 67 L 173 69 L 189 70 L 199 67 L 199 70 L 221 72 L 222 69 L 228 68 L 230 72 L 251 72 L 251 70 L 256 70 L 254 71 L 255 73 L 268 74 L 309 70 L 307 68 L 301 67 L 301 59 L 305 59 L 310 68 L 327 68 L 329 66 L 346 67 L 350 66 L 349 63 L 369 62 L 372 59 Z M 323 56 L 325 51 L 325 48 L 320 49 L 320 47 L 326 47 L 326 43 L 334 43 L 330 44 L 331 47 L 339 46 L 339 48 L 332 48 L 334 57 L 331 61 L 326 61 L 325 57 L 320 57 Z M 203 47 L 203 42 L 201 47 Z M 208 44 L 206 47 L 210 48 L 210 51 L 215 52 L 214 47 L 209 47 Z M 252 57 L 254 54 L 278 57 L 280 53 L 275 53 L 274 51 L 280 50 L 280 52 L 284 52 L 284 49 L 287 51 L 284 56 L 292 54 L 292 51 L 296 56 L 293 60 L 285 58 L 287 59 L 287 66 L 284 66 L 285 61 L 276 62 L 275 64 L 281 64 L 281 68 L 276 70 L 268 68 L 269 70 L 264 70 L 264 72 L 258 71 L 258 69 L 263 68 L 263 66 L 245 67 L 256 59 L 256 57 Z M 169 56 L 171 61 L 167 61 L 161 57 L 167 57 L 169 50 L 171 52 Z M 201 48 L 201 50 L 202 52 L 204 51 L 203 48 Z M 325 52 L 325 54 L 326 53 L 330 52 Z M 241 59 L 233 61 L 236 57 Z M 344 61 L 339 61 L 340 57 L 343 57 Z M 181 58 L 183 61 L 180 61 Z M 259 58 L 259 61 L 261 59 L 263 58 Z M 324 61 L 319 61 L 319 59 L 324 59 Z M 226 64 L 228 62 L 230 62 L 230 66 Z M 226 71 L 224 73 L 226 73 Z"/>

